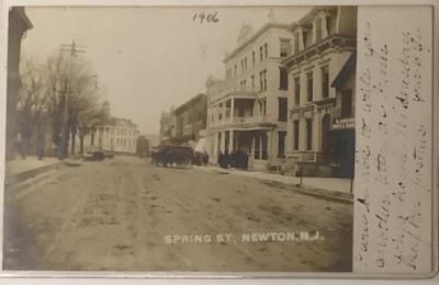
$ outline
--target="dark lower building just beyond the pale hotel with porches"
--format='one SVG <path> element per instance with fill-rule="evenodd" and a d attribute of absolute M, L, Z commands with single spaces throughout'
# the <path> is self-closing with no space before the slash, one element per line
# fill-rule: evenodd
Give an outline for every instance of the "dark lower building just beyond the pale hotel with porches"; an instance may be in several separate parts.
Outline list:
<path fill-rule="evenodd" d="M 207 96 L 200 93 L 175 110 L 176 140 L 198 141 L 206 128 Z"/>

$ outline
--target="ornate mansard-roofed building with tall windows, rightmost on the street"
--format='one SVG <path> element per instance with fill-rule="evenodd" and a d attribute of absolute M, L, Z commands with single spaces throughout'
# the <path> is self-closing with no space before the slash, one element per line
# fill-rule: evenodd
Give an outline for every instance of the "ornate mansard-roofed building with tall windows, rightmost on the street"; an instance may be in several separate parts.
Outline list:
<path fill-rule="evenodd" d="M 285 168 L 351 175 L 354 152 L 356 7 L 317 7 L 292 24 Z"/>

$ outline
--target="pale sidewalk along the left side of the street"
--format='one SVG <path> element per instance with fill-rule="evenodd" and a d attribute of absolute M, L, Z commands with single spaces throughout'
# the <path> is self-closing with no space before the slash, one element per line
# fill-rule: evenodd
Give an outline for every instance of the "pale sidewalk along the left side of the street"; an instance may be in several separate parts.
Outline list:
<path fill-rule="evenodd" d="M 38 174 L 59 167 L 63 161 L 57 158 L 44 158 L 38 160 L 36 157 L 29 156 L 26 159 L 16 158 L 7 160 L 4 164 L 4 183 L 16 184 Z"/>

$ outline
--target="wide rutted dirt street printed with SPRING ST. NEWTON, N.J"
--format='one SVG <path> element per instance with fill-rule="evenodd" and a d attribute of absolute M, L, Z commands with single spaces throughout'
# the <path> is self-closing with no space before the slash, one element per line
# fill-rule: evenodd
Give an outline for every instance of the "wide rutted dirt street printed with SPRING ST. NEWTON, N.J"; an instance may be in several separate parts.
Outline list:
<path fill-rule="evenodd" d="M 7 270 L 351 271 L 351 204 L 134 157 L 8 189 L 4 217 Z"/>

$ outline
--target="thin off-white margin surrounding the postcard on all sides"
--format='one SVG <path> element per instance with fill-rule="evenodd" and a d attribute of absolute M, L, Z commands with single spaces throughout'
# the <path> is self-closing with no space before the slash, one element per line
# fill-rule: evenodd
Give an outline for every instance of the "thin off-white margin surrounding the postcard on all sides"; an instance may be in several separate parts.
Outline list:
<path fill-rule="evenodd" d="M 112 5 L 125 5 L 125 7 L 137 7 L 137 5 L 318 5 L 318 4 L 350 4 L 350 5 L 389 5 L 389 4 L 397 4 L 397 5 L 413 5 L 413 4 L 428 4 L 434 7 L 434 104 L 432 109 L 434 111 L 437 111 L 439 107 L 439 100 L 438 100 L 438 88 L 439 88 L 439 77 L 438 77 L 438 45 L 439 45 L 439 33 L 438 33 L 438 27 L 439 27 L 439 20 L 437 14 L 439 13 L 439 2 L 437 0 L 334 0 L 334 1 L 323 1 L 323 0 L 317 0 L 317 1 L 307 1 L 307 0 L 275 0 L 275 1 L 269 1 L 269 0 L 183 0 L 183 1 L 177 1 L 177 0 L 0 0 L 0 11 L 1 11 L 1 16 L 0 16 L 0 66 L 2 68 L 0 72 L 0 94 L 2 94 L 2 101 L 0 103 L 0 116 L 1 116 L 1 124 L 0 124 L 0 181 L 4 181 L 4 134 L 5 134 L 5 82 L 7 82 L 7 47 L 8 47 L 8 41 L 7 39 L 7 31 L 8 31 L 8 8 L 11 5 L 99 5 L 99 7 L 112 7 Z M 434 250 L 436 251 L 436 260 L 434 261 L 434 271 L 438 271 L 438 183 L 439 183 L 439 171 L 438 171 L 438 160 L 439 160 L 439 152 L 438 152 L 438 139 L 439 139 L 439 114 L 438 112 L 434 112 L 434 156 L 432 156 L 432 164 L 434 169 L 432 172 L 436 173 L 434 175 L 434 185 L 436 186 L 436 191 L 434 191 L 434 198 L 432 198 L 432 204 L 434 204 L 434 236 L 436 239 L 434 239 Z M 0 195 L 0 206 L 1 208 L 3 205 L 3 196 Z M 0 214 L 1 217 L 1 223 L 2 223 L 2 212 Z M 1 229 L 2 232 L 2 229 Z M 26 276 L 33 276 L 36 277 L 35 281 L 43 281 L 42 277 L 72 277 L 67 281 L 71 282 L 80 282 L 78 278 L 83 278 L 83 277 L 89 277 L 89 278 L 98 278 L 91 281 L 93 284 L 99 281 L 100 284 L 103 284 L 103 282 L 108 283 L 111 280 L 108 280 L 106 277 L 115 277 L 113 281 L 117 281 L 119 278 L 126 278 L 126 277 L 133 277 L 133 278 L 251 278 L 251 277 L 257 277 L 257 278 L 272 278 L 270 283 L 277 281 L 277 283 L 281 280 L 279 278 L 285 278 L 285 277 L 300 277 L 300 278 L 349 278 L 349 277 L 356 277 L 356 278 L 385 278 L 385 277 L 396 277 L 395 275 L 389 276 L 384 274 L 356 274 L 356 273 L 170 273 L 170 272 L 156 272 L 156 273 L 138 273 L 138 272 L 0 272 L 0 284 L 3 283 L 3 281 L 7 281 L 5 278 L 2 277 L 21 277 L 19 280 L 21 281 L 26 281 Z M 431 275 L 432 276 L 432 275 Z M 430 277 L 431 277 L 430 276 Z M 425 275 L 413 275 L 413 274 L 405 274 L 405 275 L 398 275 L 398 278 L 419 278 L 419 277 L 428 277 Z M 436 275 L 435 280 L 439 280 L 439 275 Z M 15 278 L 16 281 L 16 278 Z M 90 281 L 90 280 L 89 280 Z M 153 281 L 153 280 L 150 280 Z M 157 280 L 156 280 L 157 281 Z M 170 280 L 167 280 L 167 282 Z M 188 280 L 189 281 L 189 280 Z M 202 282 L 202 280 L 198 280 L 199 282 Z M 205 280 L 204 280 L 205 281 Z M 218 281 L 218 280 L 216 280 Z M 224 280 L 225 282 L 232 282 Z M 221 281 L 221 282 L 224 282 Z M 252 280 L 254 282 L 259 280 Z M 335 281 L 334 282 L 341 282 L 341 281 Z M 431 282 L 434 280 L 430 280 Z M 161 284 L 162 280 L 159 281 Z M 183 280 L 179 280 L 179 283 L 183 282 Z M 219 282 L 219 281 L 218 281 Z M 320 284 L 331 283 L 330 281 L 322 281 Z M 349 282 L 349 281 L 345 281 Z M 185 281 L 184 281 L 185 283 Z M 117 282 L 119 284 L 119 282 Z M 350 283 L 347 283 L 350 284 Z"/>

